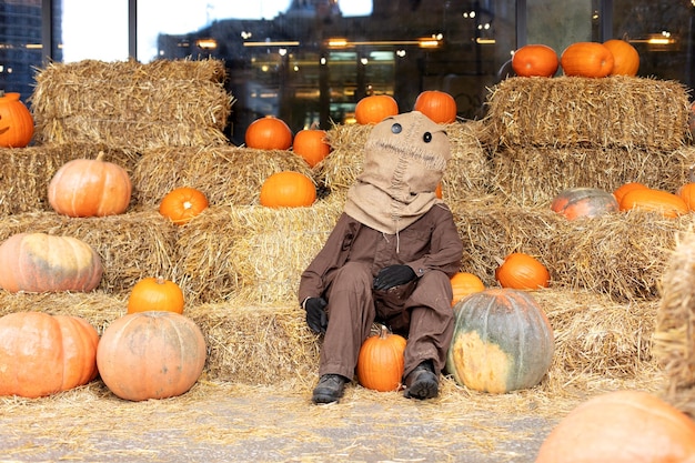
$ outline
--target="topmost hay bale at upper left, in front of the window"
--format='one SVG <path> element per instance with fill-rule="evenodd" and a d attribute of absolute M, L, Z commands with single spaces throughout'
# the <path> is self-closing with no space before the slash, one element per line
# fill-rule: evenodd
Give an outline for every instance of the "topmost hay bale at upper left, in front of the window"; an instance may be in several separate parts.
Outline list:
<path fill-rule="evenodd" d="M 142 149 L 226 144 L 232 98 L 218 60 L 49 63 L 29 101 L 38 143 Z"/>

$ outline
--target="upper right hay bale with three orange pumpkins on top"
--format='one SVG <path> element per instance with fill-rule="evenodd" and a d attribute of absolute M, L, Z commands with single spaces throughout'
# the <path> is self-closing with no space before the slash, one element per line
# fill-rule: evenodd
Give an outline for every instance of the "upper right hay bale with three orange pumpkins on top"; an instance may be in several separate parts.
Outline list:
<path fill-rule="evenodd" d="M 673 151 L 689 139 L 687 89 L 676 81 L 516 77 L 495 85 L 487 105 L 492 137 L 505 147 Z"/>

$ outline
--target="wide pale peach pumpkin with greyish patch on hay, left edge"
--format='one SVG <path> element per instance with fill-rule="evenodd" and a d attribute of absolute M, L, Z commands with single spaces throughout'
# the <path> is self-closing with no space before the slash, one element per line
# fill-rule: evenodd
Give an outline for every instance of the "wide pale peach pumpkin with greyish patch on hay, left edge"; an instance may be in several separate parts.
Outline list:
<path fill-rule="evenodd" d="M 9 292 L 91 291 L 102 273 L 97 251 L 73 236 L 17 233 L 0 245 L 0 286 Z"/>

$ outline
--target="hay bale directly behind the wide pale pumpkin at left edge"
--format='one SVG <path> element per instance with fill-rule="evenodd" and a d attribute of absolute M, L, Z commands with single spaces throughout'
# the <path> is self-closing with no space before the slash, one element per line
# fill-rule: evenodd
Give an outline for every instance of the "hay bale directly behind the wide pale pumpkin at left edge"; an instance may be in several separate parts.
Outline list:
<path fill-rule="evenodd" d="M 154 210 L 85 219 L 27 212 L 0 221 L 0 241 L 21 232 L 74 236 L 91 245 L 104 268 L 99 289 L 108 293 L 130 293 L 145 276 L 173 279 L 177 225 Z"/>

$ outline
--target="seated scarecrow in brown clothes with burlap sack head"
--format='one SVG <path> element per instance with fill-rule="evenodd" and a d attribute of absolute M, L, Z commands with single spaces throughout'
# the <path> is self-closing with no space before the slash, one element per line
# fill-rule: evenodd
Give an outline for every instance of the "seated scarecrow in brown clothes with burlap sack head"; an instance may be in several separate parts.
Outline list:
<path fill-rule="evenodd" d="M 407 339 L 405 396 L 439 394 L 453 335 L 450 278 L 463 245 L 435 193 L 451 157 L 442 125 L 413 111 L 374 125 L 364 168 L 324 246 L 302 273 L 306 323 L 323 333 L 312 401 L 336 402 L 372 323 Z"/>

